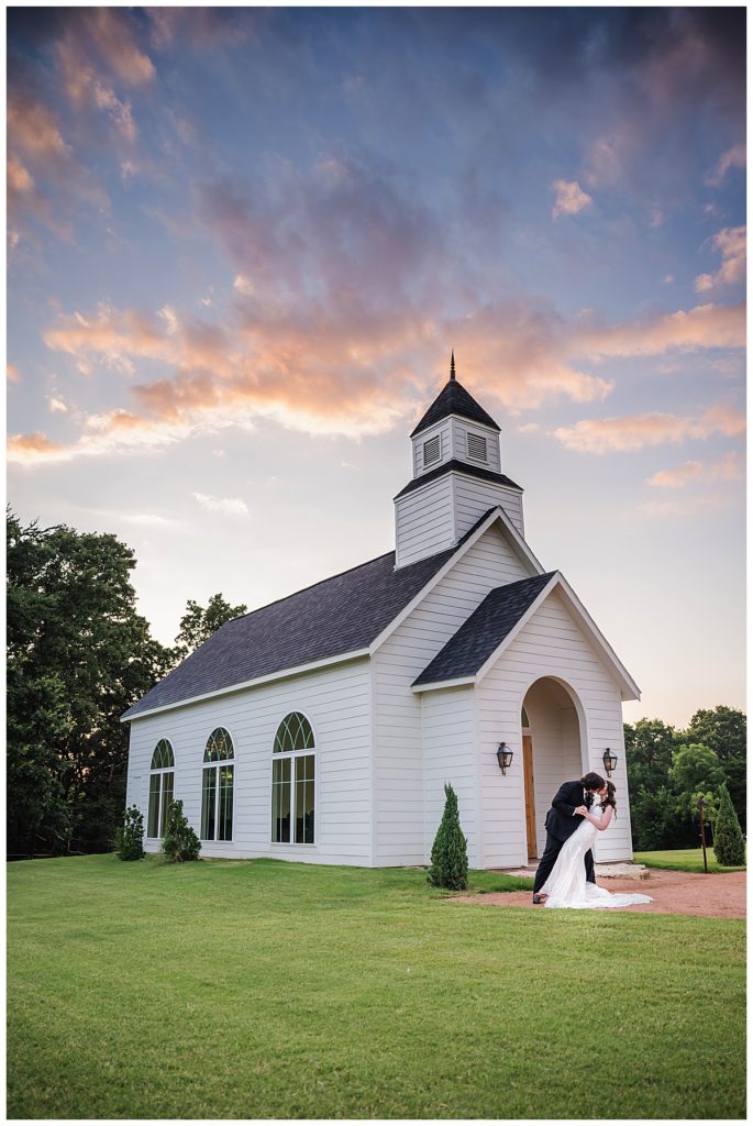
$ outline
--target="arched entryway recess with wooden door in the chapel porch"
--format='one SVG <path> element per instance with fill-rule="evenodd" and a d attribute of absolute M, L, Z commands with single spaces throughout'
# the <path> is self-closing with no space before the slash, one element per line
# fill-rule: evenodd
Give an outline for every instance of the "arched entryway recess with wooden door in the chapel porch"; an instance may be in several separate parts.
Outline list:
<path fill-rule="evenodd" d="M 585 723 L 576 692 L 555 677 L 529 687 L 521 708 L 523 793 L 528 858 L 541 856 L 544 821 L 552 798 L 570 778 L 586 769 Z"/>

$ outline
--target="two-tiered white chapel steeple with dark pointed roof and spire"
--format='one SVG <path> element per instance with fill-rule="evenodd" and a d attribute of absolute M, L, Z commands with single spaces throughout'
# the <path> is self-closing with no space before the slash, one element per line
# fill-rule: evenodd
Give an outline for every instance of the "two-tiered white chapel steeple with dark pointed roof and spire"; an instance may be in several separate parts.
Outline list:
<path fill-rule="evenodd" d="M 522 490 L 502 473 L 500 427 L 457 378 L 411 434 L 413 480 L 395 497 L 395 566 L 452 547 L 491 508 L 523 531 Z"/>

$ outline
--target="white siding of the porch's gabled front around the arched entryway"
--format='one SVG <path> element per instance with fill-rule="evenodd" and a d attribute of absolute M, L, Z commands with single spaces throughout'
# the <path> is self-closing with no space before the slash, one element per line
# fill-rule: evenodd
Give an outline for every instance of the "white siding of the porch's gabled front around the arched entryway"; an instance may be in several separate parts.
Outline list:
<path fill-rule="evenodd" d="M 609 747 L 619 757 L 612 778 L 618 790 L 619 816 L 599 834 L 595 856 L 599 861 L 629 859 L 633 852 L 619 688 L 555 592 L 476 688 L 484 864 L 514 867 L 527 859 L 520 708 L 528 689 L 541 677 L 559 678 L 570 685 L 583 709 L 584 731 L 580 722 L 576 725 L 577 713 L 571 708 L 570 699 L 559 697 L 561 714 L 555 716 L 552 698 L 547 708 L 545 692 L 531 694 L 534 715 L 529 713 L 529 718 L 534 725 L 539 848 L 544 843 L 541 824 L 558 786 L 586 770 L 603 775 L 602 756 Z M 501 741 L 514 752 L 505 777 L 494 754 Z"/>

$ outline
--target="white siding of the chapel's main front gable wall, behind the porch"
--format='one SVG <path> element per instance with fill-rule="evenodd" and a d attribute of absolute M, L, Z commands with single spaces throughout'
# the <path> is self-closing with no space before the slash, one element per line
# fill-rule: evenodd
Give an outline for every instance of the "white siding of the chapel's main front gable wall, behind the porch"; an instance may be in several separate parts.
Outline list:
<path fill-rule="evenodd" d="M 529 573 L 499 527 L 490 528 L 375 654 L 377 864 L 424 864 L 429 857 L 421 698 L 411 691 L 412 682 L 490 590 Z M 439 695 L 457 700 L 458 706 L 466 698 L 463 692 Z M 460 707 L 461 723 L 465 706 Z M 395 810 L 404 814 L 402 847 L 395 838 Z"/>

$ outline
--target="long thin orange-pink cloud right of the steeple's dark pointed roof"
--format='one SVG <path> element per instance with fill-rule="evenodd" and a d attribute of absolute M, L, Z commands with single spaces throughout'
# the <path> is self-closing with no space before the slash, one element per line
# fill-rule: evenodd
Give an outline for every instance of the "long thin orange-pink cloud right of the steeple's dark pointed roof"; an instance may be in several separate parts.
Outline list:
<path fill-rule="evenodd" d="M 678 414 L 633 414 L 622 418 L 583 419 L 572 427 L 558 427 L 557 438 L 579 454 L 607 454 L 703 439 L 712 434 L 739 437 L 745 432 L 745 415 L 728 406 L 709 406 L 699 418 Z"/>

